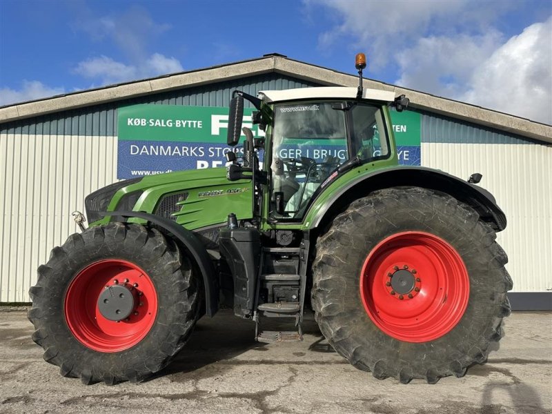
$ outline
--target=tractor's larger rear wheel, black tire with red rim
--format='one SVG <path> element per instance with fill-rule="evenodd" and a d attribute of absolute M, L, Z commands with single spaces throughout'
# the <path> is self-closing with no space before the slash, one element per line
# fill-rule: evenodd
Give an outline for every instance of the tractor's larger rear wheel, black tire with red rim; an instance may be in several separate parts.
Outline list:
<path fill-rule="evenodd" d="M 462 377 L 486 361 L 510 314 L 512 281 L 495 237 L 443 193 L 395 187 L 357 199 L 317 242 L 320 330 L 378 379 Z"/>

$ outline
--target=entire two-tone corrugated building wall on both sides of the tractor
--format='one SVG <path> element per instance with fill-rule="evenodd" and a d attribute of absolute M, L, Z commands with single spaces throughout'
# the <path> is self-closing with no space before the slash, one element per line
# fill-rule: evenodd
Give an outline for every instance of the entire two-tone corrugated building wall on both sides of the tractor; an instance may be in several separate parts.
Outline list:
<path fill-rule="evenodd" d="M 37 267 L 77 231 L 70 213 L 117 180 L 117 107 L 227 106 L 235 89 L 308 86 L 317 85 L 271 73 L 0 125 L 0 302 L 30 302 Z M 481 172 L 509 219 L 499 242 L 514 290 L 552 288 L 552 146 L 424 112 L 422 165 L 466 179 Z"/>

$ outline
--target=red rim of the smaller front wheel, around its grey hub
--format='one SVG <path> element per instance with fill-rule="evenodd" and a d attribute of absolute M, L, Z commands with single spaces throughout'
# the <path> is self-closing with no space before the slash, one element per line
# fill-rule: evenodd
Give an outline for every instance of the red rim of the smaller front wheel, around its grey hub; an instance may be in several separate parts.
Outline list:
<path fill-rule="evenodd" d="M 126 284 L 135 297 L 128 318 L 106 319 L 98 299 L 104 289 Z M 157 292 L 144 270 L 122 259 L 100 260 L 83 268 L 66 293 L 64 313 L 71 333 L 88 348 L 119 352 L 138 344 L 150 331 L 157 316 Z"/>

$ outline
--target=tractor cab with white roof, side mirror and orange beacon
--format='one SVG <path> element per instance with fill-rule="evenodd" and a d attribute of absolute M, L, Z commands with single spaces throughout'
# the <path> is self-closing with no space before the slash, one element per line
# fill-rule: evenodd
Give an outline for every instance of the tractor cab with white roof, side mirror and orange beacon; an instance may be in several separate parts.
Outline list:
<path fill-rule="evenodd" d="M 233 161 L 228 179 L 253 179 L 254 215 L 272 222 L 300 222 L 313 200 L 339 175 L 362 164 L 376 166 L 377 161 L 398 164 L 388 107 L 402 111 L 408 99 L 364 89 L 365 66 L 364 55 L 357 55 L 358 88 L 268 90 L 257 97 L 233 93 L 228 145 L 237 145 L 242 135 L 246 141 L 242 164 L 228 153 L 228 161 Z M 266 131 L 264 138 L 253 138 L 249 128 L 242 130 L 244 99 L 257 108 L 253 124 Z M 262 167 L 256 149 L 264 149 Z M 262 201 L 262 195 L 268 201 Z"/>

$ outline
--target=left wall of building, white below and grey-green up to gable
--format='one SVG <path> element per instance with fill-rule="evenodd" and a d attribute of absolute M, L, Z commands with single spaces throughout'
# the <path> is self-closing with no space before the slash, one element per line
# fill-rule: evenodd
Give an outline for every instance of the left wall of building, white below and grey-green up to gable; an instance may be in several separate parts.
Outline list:
<path fill-rule="evenodd" d="M 38 266 L 77 231 L 70 213 L 117 181 L 118 106 L 228 106 L 235 89 L 307 86 L 271 73 L 0 125 L 0 302 L 30 302 Z"/>

